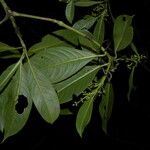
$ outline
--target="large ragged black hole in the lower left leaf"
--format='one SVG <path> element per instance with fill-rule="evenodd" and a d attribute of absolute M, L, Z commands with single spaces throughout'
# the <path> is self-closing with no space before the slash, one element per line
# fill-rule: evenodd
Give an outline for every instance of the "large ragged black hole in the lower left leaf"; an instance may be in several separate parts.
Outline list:
<path fill-rule="evenodd" d="M 22 114 L 24 109 L 28 106 L 27 98 L 23 95 L 19 95 L 18 103 L 15 106 L 15 109 L 18 114 Z"/>

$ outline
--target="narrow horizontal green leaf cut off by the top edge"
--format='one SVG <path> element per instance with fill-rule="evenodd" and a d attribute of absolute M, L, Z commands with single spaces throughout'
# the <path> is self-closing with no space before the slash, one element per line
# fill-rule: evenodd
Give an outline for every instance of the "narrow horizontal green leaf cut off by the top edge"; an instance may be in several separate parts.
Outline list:
<path fill-rule="evenodd" d="M 96 4 L 101 4 L 102 2 L 97 2 L 97 1 L 77 1 L 75 2 L 75 6 L 78 7 L 89 7 L 89 6 L 93 6 Z"/>

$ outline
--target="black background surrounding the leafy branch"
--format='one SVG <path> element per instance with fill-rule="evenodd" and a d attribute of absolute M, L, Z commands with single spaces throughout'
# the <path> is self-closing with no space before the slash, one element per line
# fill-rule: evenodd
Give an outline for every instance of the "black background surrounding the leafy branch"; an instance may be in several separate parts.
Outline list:
<path fill-rule="evenodd" d="M 9 6 L 18 12 L 40 15 L 45 17 L 65 20 L 64 7 L 57 0 L 6 0 Z M 142 0 L 131 3 L 131 0 L 111 1 L 114 16 L 120 14 L 135 15 L 133 26 L 135 30 L 134 41 L 140 53 L 149 58 L 150 49 L 150 23 L 149 23 L 149 1 Z M 78 10 L 76 17 L 84 14 L 84 10 Z M 0 8 L 0 18 L 4 16 Z M 40 41 L 41 37 L 54 30 L 60 29 L 47 22 L 18 19 L 17 23 L 27 47 Z M 0 26 L 0 41 L 10 45 L 18 45 L 14 31 L 9 22 Z M 0 61 L 1 71 L 9 64 Z M 150 67 L 150 62 L 144 66 Z M 114 75 L 115 104 L 112 117 L 109 121 L 108 135 L 101 130 L 101 120 L 97 111 L 94 111 L 92 121 L 84 132 L 81 139 L 75 130 L 76 116 L 63 117 L 50 125 L 46 123 L 33 108 L 26 126 L 15 136 L 0 145 L 1 149 L 54 149 L 54 148 L 88 148 L 93 149 L 128 149 L 149 150 L 150 149 L 150 103 L 149 103 L 149 80 L 150 73 L 142 65 L 136 70 L 136 91 L 130 102 L 126 99 L 128 86 L 128 72 L 122 66 Z M 2 137 L 2 134 L 0 134 Z M 47 148 L 46 148 L 47 146 Z M 97 147 L 97 148 L 96 148 Z"/>

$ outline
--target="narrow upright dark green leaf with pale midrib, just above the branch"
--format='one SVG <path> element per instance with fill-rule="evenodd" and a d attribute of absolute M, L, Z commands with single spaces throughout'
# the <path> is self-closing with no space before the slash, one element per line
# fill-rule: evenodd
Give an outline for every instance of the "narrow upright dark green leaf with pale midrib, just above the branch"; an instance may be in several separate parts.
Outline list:
<path fill-rule="evenodd" d="M 102 15 L 97 23 L 96 26 L 94 28 L 94 37 L 96 39 L 96 41 L 102 45 L 103 41 L 104 41 L 104 34 L 105 34 L 105 23 L 104 23 L 104 16 Z"/>

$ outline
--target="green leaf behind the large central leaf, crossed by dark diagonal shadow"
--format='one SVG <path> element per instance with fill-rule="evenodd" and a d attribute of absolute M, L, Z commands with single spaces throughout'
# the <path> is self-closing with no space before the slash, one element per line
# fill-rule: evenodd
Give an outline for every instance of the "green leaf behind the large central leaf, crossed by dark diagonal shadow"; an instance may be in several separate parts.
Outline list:
<path fill-rule="evenodd" d="M 41 42 L 34 44 L 28 51 L 28 54 L 32 55 L 41 50 L 58 47 L 58 46 L 77 46 L 78 36 L 73 31 L 67 29 L 61 29 L 44 36 Z"/>

